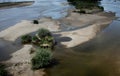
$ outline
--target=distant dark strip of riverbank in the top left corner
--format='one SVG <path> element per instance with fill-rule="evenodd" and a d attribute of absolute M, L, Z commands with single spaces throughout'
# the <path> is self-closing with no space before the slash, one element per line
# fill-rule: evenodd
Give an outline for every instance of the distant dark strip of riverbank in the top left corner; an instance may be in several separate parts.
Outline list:
<path fill-rule="evenodd" d="M 29 6 L 29 5 L 32 5 L 33 3 L 34 1 L 5 2 L 5 3 L 0 3 L 0 9 Z"/>

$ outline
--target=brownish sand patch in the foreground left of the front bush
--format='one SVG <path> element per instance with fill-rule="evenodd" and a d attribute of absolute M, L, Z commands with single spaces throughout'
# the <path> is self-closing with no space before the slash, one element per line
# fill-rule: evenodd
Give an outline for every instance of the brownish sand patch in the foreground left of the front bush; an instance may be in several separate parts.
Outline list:
<path fill-rule="evenodd" d="M 12 54 L 12 58 L 5 63 L 9 66 L 7 70 L 9 70 L 10 74 L 13 76 L 43 76 L 45 74 L 44 69 L 40 69 L 37 71 L 31 70 L 31 54 L 30 50 L 32 49 L 32 45 L 24 45 L 24 47 L 15 53 Z"/>

